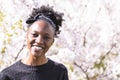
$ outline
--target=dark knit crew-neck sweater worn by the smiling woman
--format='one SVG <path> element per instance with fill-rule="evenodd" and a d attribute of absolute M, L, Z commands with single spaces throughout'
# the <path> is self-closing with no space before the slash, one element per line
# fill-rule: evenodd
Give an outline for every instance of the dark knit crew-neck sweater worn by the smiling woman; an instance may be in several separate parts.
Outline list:
<path fill-rule="evenodd" d="M 0 73 L 0 80 L 68 80 L 64 65 L 48 60 L 40 66 L 28 66 L 20 61 Z"/>

